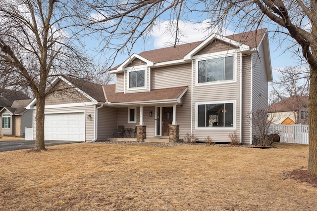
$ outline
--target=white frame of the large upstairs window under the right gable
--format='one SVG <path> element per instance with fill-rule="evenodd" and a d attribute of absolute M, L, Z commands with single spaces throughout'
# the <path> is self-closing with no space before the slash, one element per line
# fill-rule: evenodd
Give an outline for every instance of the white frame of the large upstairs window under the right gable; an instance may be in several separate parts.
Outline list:
<path fill-rule="evenodd" d="M 232 80 L 198 83 L 198 62 L 199 61 L 204 61 L 204 60 L 208 60 L 208 59 L 223 58 L 223 57 L 229 57 L 229 56 L 233 56 L 233 79 Z M 210 84 L 227 84 L 227 83 L 237 82 L 237 50 L 234 49 L 234 50 L 227 50 L 227 51 L 221 51 L 221 52 L 216 52 L 216 53 L 197 55 L 197 56 L 193 56 L 193 59 L 196 59 L 195 84 L 197 86 L 210 85 Z"/>

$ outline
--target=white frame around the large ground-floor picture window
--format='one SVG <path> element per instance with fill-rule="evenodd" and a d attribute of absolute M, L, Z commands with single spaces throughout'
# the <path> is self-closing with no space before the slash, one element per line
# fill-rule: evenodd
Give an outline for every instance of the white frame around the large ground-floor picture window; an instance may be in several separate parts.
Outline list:
<path fill-rule="evenodd" d="M 233 127 L 198 127 L 198 105 L 233 103 Z M 205 101 L 195 103 L 195 129 L 197 130 L 236 130 L 237 100 Z"/>

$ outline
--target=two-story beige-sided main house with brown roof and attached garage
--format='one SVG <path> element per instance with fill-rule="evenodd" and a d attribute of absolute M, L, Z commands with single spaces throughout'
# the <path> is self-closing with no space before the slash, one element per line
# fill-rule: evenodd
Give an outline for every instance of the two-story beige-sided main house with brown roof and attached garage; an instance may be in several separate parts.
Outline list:
<path fill-rule="evenodd" d="M 136 128 L 138 141 L 178 141 L 193 133 L 230 142 L 237 131 L 250 144 L 255 131 L 248 113 L 267 109 L 272 80 L 265 29 L 133 54 L 110 73 L 116 84 L 55 80 L 53 86 L 68 91 L 46 99 L 46 139 L 105 140 L 123 126 L 132 137 Z M 27 108 L 35 118 L 36 100 Z"/>

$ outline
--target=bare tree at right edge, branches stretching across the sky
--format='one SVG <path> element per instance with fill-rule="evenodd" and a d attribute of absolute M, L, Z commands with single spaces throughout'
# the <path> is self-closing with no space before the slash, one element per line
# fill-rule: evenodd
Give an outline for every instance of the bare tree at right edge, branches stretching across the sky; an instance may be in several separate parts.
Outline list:
<path fill-rule="evenodd" d="M 129 49 L 164 16 L 174 29 L 174 45 L 182 36 L 179 21 L 191 21 L 188 13 L 195 13 L 211 29 L 230 25 L 237 31 L 272 28 L 272 38 L 291 39 L 295 53 L 310 65 L 309 127 L 310 150 L 308 172 L 317 174 L 317 1 L 316 0 L 98 0 L 93 2 L 98 19 L 91 26 L 101 30 L 100 38 L 116 50 Z M 186 19 L 187 18 L 187 19 Z M 111 24 L 106 24 L 110 23 Z M 221 27 L 219 27 L 221 26 Z M 106 37 L 104 37 L 106 35 Z M 116 39 L 123 42 L 115 42 Z M 260 41 L 259 41 L 260 42 Z M 112 45 L 111 45 L 112 44 Z M 112 46 L 112 47 L 111 47 Z"/>

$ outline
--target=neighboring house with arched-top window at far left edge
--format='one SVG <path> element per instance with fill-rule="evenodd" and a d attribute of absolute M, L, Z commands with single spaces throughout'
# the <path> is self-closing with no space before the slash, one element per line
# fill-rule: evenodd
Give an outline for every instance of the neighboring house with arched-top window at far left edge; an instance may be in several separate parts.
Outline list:
<path fill-rule="evenodd" d="M 24 136 L 25 127 L 32 127 L 32 111 L 25 107 L 32 101 L 14 100 L 10 107 L 5 106 L 0 110 L 0 134 Z"/>

